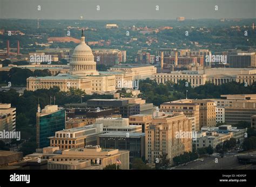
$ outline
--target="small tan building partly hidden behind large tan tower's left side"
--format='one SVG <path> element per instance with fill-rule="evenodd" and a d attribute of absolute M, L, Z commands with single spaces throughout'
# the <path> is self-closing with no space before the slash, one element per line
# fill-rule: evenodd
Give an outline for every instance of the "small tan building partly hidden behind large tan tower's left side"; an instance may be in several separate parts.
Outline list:
<path fill-rule="evenodd" d="M 129 125 L 141 125 L 142 132 L 145 133 L 152 122 L 152 115 L 150 114 L 136 114 L 129 117 Z"/>

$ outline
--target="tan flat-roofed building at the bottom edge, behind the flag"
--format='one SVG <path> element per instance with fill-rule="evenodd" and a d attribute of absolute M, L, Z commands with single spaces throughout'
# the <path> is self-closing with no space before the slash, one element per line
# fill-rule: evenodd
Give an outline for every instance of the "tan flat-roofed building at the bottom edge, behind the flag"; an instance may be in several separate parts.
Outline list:
<path fill-rule="evenodd" d="M 117 164 L 117 160 L 122 163 L 118 164 L 120 169 L 129 169 L 129 151 L 118 149 L 103 149 L 100 146 L 86 146 L 85 148 L 67 149 L 61 155 L 52 156 L 50 161 L 53 162 L 86 162 L 90 161 L 91 166 L 105 168 L 111 164 Z"/>

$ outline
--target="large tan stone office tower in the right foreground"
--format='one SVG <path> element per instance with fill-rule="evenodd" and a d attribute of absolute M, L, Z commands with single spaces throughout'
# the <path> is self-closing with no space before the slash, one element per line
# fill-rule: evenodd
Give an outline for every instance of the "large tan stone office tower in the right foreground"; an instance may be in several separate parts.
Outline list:
<path fill-rule="evenodd" d="M 156 112 L 152 124 L 146 130 L 146 160 L 156 163 L 163 153 L 167 158 L 192 151 L 192 123 L 183 112 Z M 185 133 L 185 136 L 181 134 Z"/>

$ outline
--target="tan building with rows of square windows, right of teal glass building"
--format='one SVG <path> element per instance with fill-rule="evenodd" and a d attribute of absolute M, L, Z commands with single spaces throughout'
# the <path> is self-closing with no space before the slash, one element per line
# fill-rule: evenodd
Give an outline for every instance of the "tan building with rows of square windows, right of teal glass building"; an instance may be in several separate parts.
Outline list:
<path fill-rule="evenodd" d="M 49 137 L 50 146 L 62 149 L 84 148 L 97 145 L 97 135 L 103 133 L 102 124 L 87 125 L 55 132 Z"/>

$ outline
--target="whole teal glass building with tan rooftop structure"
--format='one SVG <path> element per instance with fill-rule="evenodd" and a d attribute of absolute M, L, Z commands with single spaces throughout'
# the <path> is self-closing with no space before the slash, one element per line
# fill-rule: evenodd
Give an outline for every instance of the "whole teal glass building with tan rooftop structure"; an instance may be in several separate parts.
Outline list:
<path fill-rule="evenodd" d="M 41 112 L 37 112 L 36 119 L 36 141 L 37 147 L 50 146 L 50 136 L 54 136 L 56 131 L 65 129 L 66 112 L 58 105 L 47 105 Z"/>

